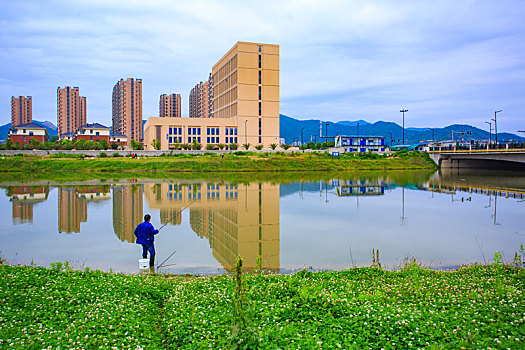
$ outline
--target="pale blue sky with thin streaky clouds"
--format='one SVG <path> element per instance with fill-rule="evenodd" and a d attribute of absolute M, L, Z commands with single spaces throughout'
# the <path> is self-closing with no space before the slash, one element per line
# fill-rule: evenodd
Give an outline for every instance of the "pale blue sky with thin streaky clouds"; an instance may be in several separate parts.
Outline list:
<path fill-rule="evenodd" d="M 143 80 L 143 118 L 159 95 L 189 92 L 237 41 L 280 45 L 280 112 L 406 127 L 525 130 L 525 2 L 0 2 L 0 124 L 11 96 L 56 124 L 56 89 L 78 86 L 87 120 L 111 125 L 111 92 Z"/>

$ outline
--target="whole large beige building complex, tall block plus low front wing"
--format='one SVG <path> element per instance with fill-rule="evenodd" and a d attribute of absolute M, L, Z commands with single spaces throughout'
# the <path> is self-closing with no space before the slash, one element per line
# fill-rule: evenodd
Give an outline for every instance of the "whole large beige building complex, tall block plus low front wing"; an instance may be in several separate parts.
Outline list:
<path fill-rule="evenodd" d="M 197 97 L 205 94 L 206 84 L 211 96 L 207 115 L 196 109 Z M 208 82 L 197 84 L 192 90 L 190 117 L 193 118 L 149 118 L 144 131 L 146 149 L 153 149 L 153 139 L 160 140 L 161 150 L 175 149 L 194 140 L 203 148 L 208 144 L 228 147 L 232 143 L 239 148 L 249 144 L 250 149 L 256 145 L 264 149 L 278 145 L 279 46 L 236 43 L 213 66 Z"/>

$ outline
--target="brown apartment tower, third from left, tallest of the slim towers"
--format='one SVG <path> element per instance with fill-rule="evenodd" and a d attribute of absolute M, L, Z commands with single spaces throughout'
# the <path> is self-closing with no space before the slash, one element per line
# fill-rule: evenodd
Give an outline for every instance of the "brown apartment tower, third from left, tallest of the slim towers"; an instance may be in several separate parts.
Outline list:
<path fill-rule="evenodd" d="M 142 141 L 142 79 L 120 79 L 113 87 L 113 133 Z"/>

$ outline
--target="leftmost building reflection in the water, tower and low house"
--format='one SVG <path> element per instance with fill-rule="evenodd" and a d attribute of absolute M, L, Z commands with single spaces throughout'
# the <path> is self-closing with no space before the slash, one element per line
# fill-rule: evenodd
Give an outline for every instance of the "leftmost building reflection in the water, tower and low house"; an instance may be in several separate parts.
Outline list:
<path fill-rule="evenodd" d="M 49 195 L 48 186 L 16 186 L 7 189 L 7 196 L 13 202 L 13 224 L 33 222 L 33 205 L 45 201 Z"/>

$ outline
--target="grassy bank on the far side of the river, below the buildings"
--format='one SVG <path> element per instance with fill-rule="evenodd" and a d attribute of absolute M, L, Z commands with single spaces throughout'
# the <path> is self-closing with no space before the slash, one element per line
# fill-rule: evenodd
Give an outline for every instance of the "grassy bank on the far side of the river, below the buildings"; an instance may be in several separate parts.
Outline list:
<path fill-rule="evenodd" d="M 0 172 L 113 171 L 113 172 L 268 172 L 268 171 L 353 171 L 428 169 L 435 164 L 428 155 L 409 153 L 397 157 L 344 155 L 331 158 L 316 153 L 238 152 L 177 154 L 140 159 L 122 157 L 11 156 L 0 159 Z"/>

